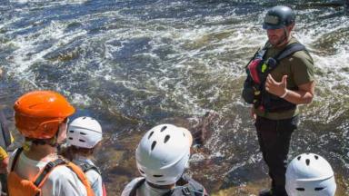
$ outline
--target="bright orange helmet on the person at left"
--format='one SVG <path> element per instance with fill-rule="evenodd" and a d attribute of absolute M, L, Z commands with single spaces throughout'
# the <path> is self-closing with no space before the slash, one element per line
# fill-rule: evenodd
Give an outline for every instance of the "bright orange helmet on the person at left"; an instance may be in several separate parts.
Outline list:
<path fill-rule="evenodd" d="M 75 108 L 60 93 L 34 91 L 15 102 L 15 126 L 25 137 L 49 139 L 59 125 L 75 113 Z"/>

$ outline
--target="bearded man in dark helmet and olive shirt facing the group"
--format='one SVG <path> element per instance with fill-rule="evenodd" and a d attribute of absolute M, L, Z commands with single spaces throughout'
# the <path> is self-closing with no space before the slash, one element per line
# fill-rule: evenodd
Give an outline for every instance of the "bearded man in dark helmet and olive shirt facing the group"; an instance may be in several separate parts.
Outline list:
<path fill-rule="evenodd" d="M 274 6 L 264 17 L 268 42 L 246 66 L 243 97 L 252 113 L 264 162 L 272 179 L 259 195 L 287 195 L 285 171 L 292 132 L 297 128 L 297 104 L 314 97 L 314 63 L 303 44 L 292 36 L 295 15 L 290 7 Z"/>

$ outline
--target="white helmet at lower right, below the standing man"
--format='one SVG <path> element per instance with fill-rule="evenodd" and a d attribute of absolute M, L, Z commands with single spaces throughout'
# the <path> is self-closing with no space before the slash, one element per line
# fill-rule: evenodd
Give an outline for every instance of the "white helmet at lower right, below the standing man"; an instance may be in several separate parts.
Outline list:
<path fill-rule="evenodd" d="M 304 153 L 294 158 L 286 171 L 286 191 L 290 196 L 334 196 L 334 171 L 323 157 Z"/>

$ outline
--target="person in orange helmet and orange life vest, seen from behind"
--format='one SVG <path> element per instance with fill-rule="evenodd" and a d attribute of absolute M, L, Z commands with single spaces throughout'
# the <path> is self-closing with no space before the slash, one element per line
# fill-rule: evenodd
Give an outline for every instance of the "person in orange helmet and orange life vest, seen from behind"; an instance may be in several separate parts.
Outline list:
<path fill-rule="evenodd" d="M 10 195 L 94 195 L 85 174 L 57 155 L 64 142 L 68 117 L 75 108 L 52 91 L 25 93 L 15 102 L 15 127 L 31 142 L 18 148 L 8 164 Z"/>

